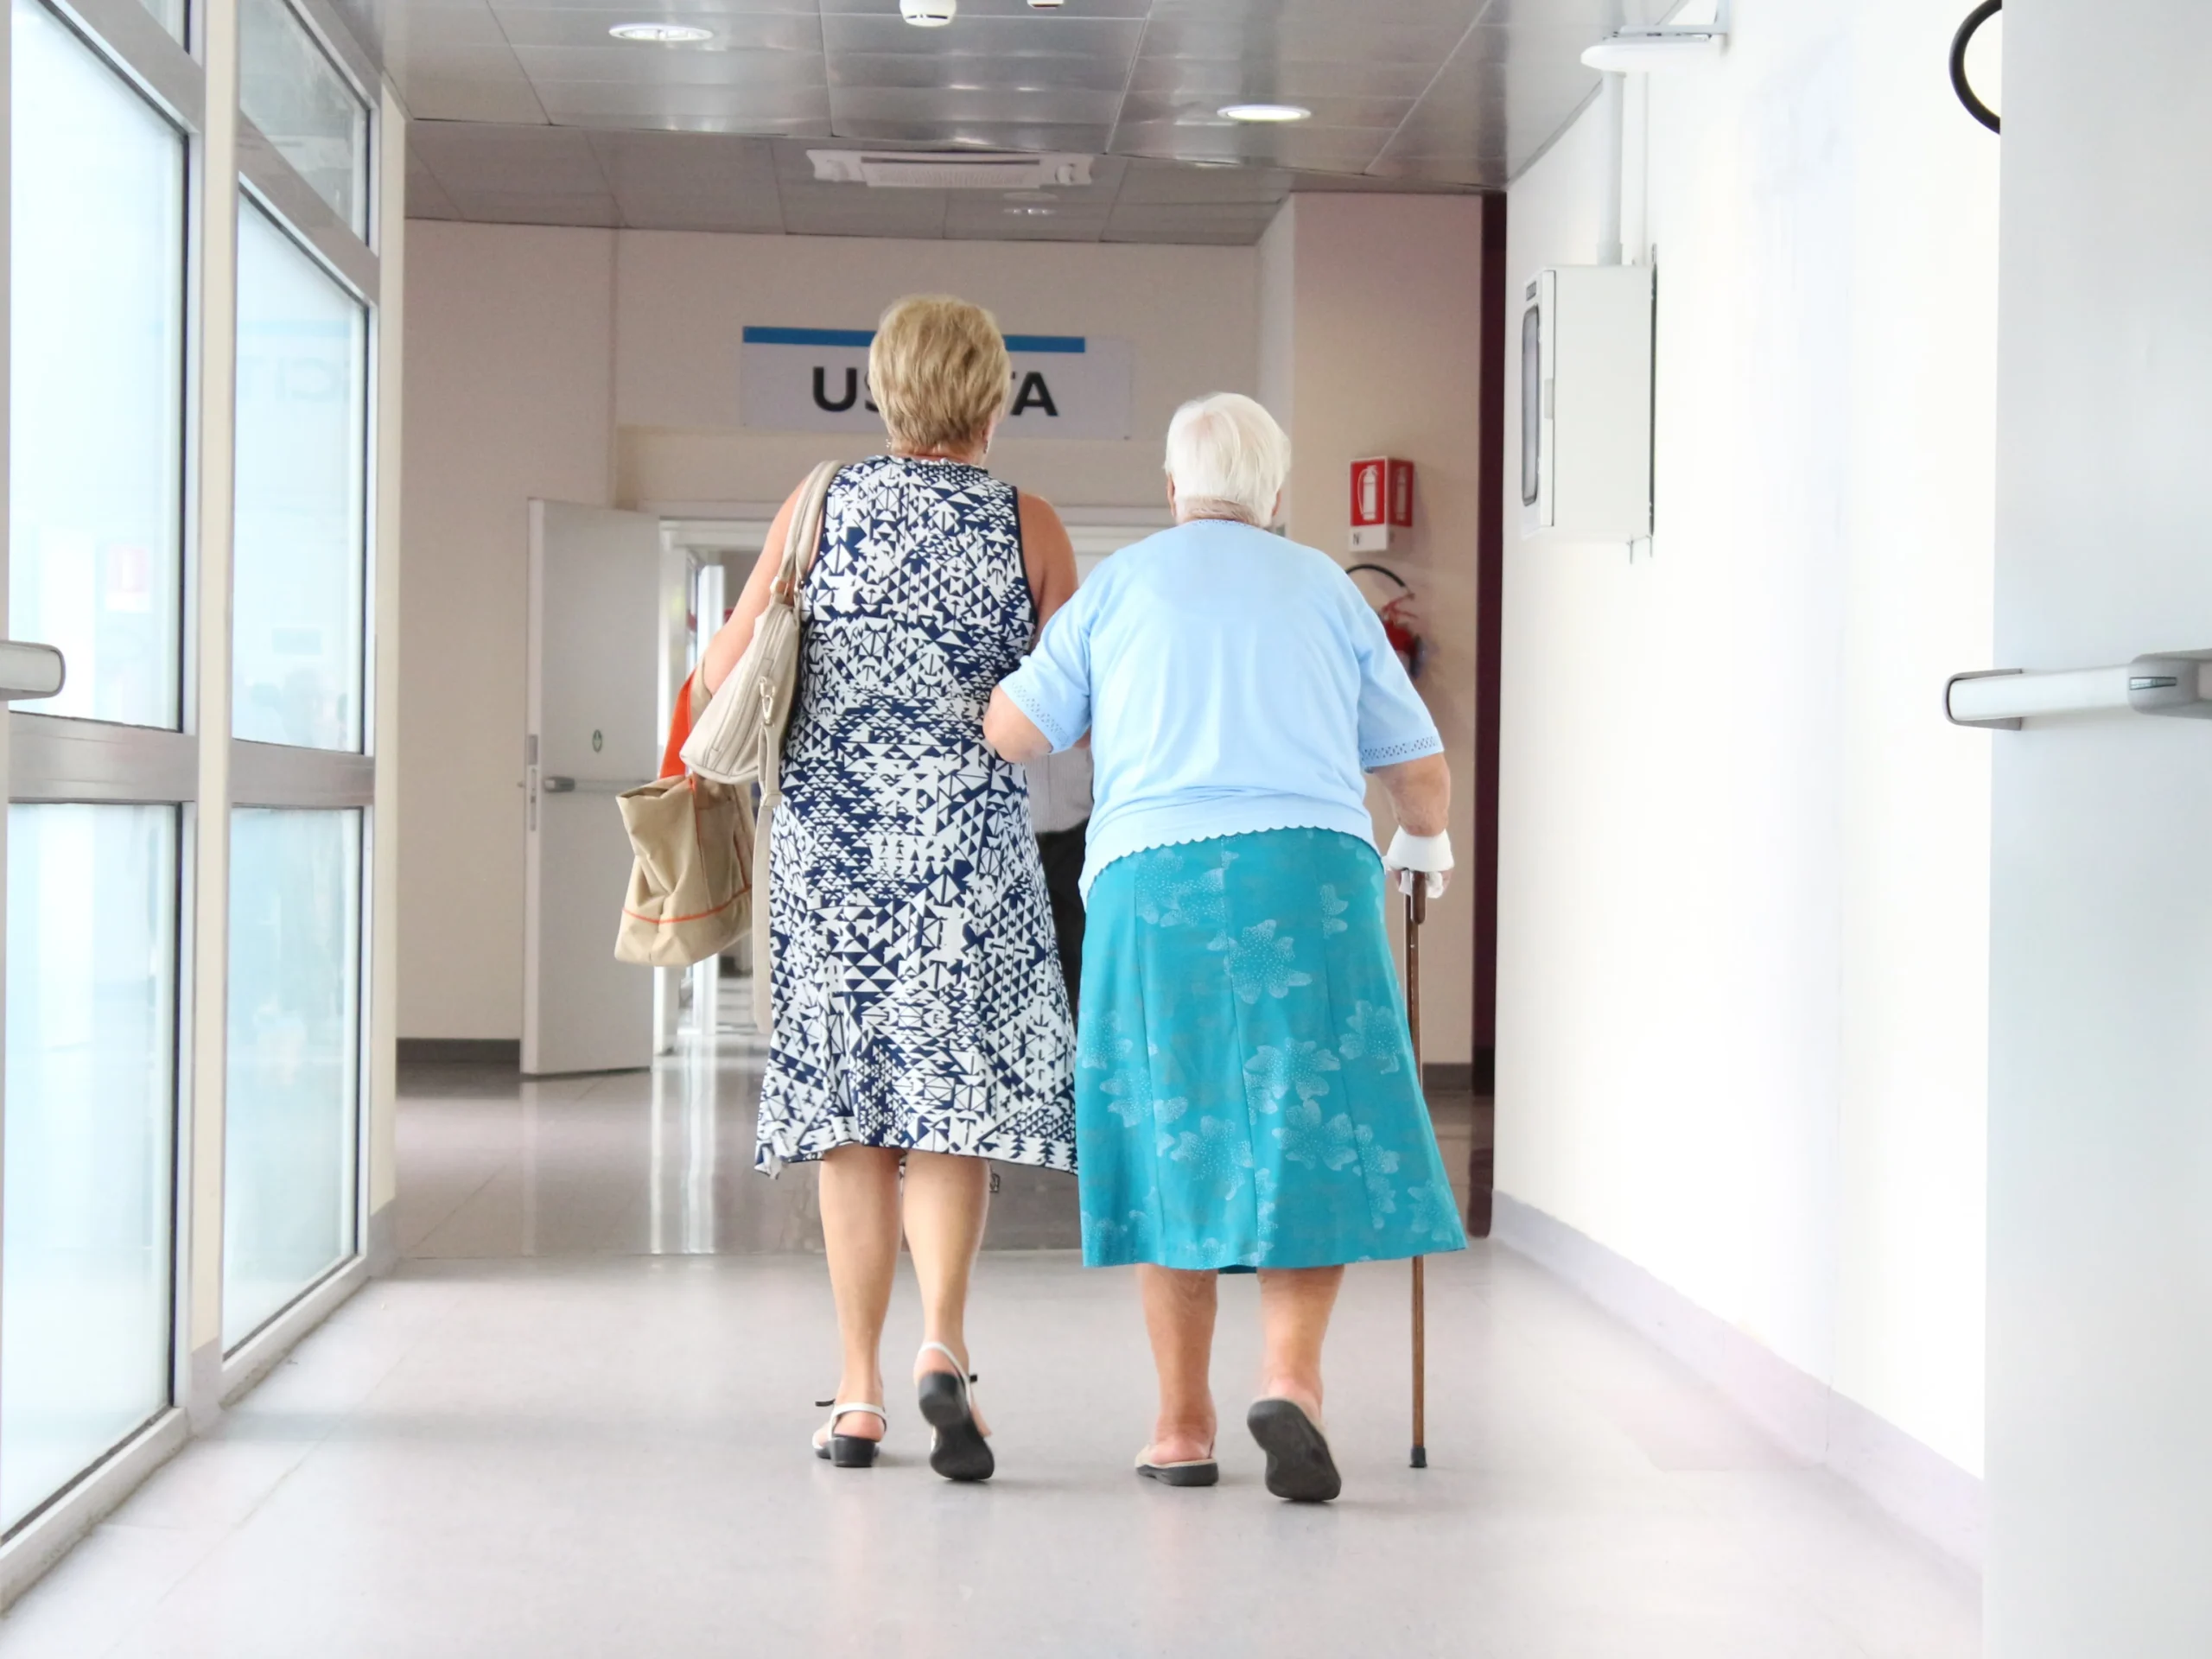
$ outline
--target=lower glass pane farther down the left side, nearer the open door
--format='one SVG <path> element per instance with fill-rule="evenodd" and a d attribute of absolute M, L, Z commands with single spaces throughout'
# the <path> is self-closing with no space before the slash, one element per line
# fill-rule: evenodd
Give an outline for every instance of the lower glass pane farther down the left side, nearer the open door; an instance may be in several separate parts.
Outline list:
<path fill-rule="evenodd" d="M 354 1254 L 361 814 L 230 814 L 223 1349 Z"/>

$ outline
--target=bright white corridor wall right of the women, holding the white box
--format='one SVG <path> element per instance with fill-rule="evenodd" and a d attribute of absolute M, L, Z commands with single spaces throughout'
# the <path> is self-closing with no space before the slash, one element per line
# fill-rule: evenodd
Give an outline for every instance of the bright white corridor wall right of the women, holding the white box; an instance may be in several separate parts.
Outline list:
<path fill-rule="evenodd" d="M 1989 741 L 1940 692 L 1991 650 L 1997 144 L 1955 22 L 1745 0 L 1650 84 L 1657 535 L 1509 502 L 1498 1186 L 1980 1471 Z M 1597 126 L 1511 192 L 1515 296 L 1595 257 Z"/>

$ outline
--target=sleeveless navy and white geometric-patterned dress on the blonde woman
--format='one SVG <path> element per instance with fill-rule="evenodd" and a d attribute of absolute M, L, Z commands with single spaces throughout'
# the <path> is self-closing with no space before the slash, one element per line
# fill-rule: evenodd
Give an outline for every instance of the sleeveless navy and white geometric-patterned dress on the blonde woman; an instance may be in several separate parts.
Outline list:
<path fill-rule="evenodd" d="M 754 1164 L 905 1146 L 1075 1168 L 1075 1033 L 1015 768 L 982 741 L 1035 604 L 980 467 L 838 473 L 770 836 L 774 1040 Z"/>

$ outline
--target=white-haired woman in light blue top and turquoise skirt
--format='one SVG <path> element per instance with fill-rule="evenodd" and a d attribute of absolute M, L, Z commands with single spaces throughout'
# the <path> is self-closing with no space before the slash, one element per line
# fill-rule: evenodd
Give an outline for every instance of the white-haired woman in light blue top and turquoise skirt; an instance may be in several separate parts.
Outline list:
<path fill-rule="evenodd" d="M 1219 1272 L 1256 1270 L 1267 1491 L 1338 1493 L 1321 1345 L 1345 1263 L 1467 1243 L 1383 922 L 1444 889 L 1451 774 L 1343 568 L 1263 526 L 1290 440 L 1252 398 L 1168 427 L 1177 526 L 1106 560 L 1000 681 L 984 739 L 1091 739 L 1075 1146 L 1084 1263 L 1137 1263 L 1159 1418 L 1137 1471 L 1219 1480 Z M 1365 776 L 1398 836 L 1376 856 Z M 1422 872 L 1413 876 L 1411 872 Z"/>

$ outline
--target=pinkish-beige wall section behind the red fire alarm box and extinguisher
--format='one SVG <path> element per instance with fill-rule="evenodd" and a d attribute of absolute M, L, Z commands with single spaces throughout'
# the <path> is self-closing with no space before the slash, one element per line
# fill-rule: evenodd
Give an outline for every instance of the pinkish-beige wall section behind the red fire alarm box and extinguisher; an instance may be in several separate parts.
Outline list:
<path fill-rule="evenodd" d="M 1349 469 L 1416 465 L 1413 533 L 1376 555 L 1413 584 L 1429 635 L 1420 695 L 1451 761 L 1451 838 L 1473 863 L 1475 535 L 1482 465 L 1482 204 L 1473 197 L 1292 197 L 1261 241 L 1259 378 L 1290 429 L 1285 529 L 1345 564 Z M 1378 593 L 1383 588 L 1376 588 Z M 1396 827 L 1380 790 L 1376 832 Z M 1396 907 L 1394 907 L 1396 911 Z M 1396 927 L 1396 914 L 1394 914 Z M 1422 931 L 1422 1060 L 1464 1064 L 1473 1033 L 1473 887 Z"/>

